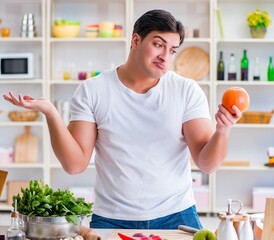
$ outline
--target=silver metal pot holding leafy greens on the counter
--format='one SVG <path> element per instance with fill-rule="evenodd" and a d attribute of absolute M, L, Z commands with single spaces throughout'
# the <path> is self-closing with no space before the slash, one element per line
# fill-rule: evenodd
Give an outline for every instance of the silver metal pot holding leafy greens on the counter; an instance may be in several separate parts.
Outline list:
<path fill-rule="evenodd" d="M 24 221 L 24 228 L 30 239 L 60 239 L 75 237 L 82 224 L 83 216 L 78 216 L 78 224 L 75 225 L 66 220 L 66 217 L 28 217 L 19 214 Z"/>

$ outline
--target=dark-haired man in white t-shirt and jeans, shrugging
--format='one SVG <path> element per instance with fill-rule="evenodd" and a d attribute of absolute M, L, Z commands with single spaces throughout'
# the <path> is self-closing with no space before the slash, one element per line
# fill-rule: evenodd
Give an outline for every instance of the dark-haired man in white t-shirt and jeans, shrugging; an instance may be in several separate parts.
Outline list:
<path fill-rule="evenodd" d="M 46 99 L 4 98 L 45 114 L 65 171 L 84 171 L 96 149 L 92 228 L 201 228 L 192 191 L 190 155 L 216 170 L 233 124 L 222 105 L 212 130 L 207 99 L 191 79 L 168 71 L 184 38 L 169 12 L 152 10 L 135 23 L 125 64 L 86 80 L 71 102 L 68 128 Z"/>

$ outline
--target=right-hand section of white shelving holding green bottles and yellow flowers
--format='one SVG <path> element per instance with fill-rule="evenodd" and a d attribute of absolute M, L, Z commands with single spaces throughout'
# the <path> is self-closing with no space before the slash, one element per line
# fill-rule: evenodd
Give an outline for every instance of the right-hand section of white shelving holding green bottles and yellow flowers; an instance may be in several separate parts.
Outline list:
<path fill-rule="evenodd" d="M 252 39 L 247 27 L 246 17 L 256 9 L 267 10 L 274 17 L 273 1 L 263 0 L 217 0 L 215 7 L 221 10 L 224 26 L 224 38 L 219 31 L 215 34 L 215 62 L 219 51 L 224 53 L 224 61 L 228 63 L 230 53 L 234 53 L 238 63 L 238 81 L 217 81 L 214 78 L 215 109 L 220 103 L 223 92 L 231 86 L 245 88 L 251 99 L 248 111 L 270 112 L 274 109 L 274 84 L 267 81 L 269 57 L 274 55 L 274 29 L 268 27 L 264 39 Z M 232 17 L 233 16 L 233 17 Z M 216 22 L 216 25 L 218 22 Z M 219 26 L 216 26 L 219 27 Z M 240 81 L 240 61 L 243 50 L 247 50 L 249 59 L 249 81 Z M 261 80 L 253 81 L 255 57 L 259 57 Z M 227 76 L 227 73 L 225 72 Z M 249 161 L 248 167 L 221 167 L 214 174 L 213 212 L 223 211 L 228 198 L 243 201 L 245 210 L 254 212 L 252 208 L 252 189 L 254 187 L 274 187 L 273 169 L 264 167 L 268 161 L 267 149 L 273 143 L 273 124 L 237 124 L 232 129 L 229 153 L 226 160 Z"/>

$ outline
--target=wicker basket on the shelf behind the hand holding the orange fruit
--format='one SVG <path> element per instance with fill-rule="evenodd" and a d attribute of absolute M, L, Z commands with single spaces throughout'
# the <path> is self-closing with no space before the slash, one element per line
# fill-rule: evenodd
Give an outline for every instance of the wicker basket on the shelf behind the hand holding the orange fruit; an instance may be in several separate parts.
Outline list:
<path fill-rule="evenodd" d="M 273 112 L 244 112 L 237 123 L 264 123 L 270 122 Z"/>

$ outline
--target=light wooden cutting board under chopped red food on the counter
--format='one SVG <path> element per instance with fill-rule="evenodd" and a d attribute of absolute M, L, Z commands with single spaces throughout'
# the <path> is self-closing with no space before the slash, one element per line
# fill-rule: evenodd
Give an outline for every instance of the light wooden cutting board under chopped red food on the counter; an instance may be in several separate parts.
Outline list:
<path fill-rule="evenodd" d="M 150 234 L 159 235 L 163 239 L 167 240 L 192 240 L 193 235 L 185 233 L 180 230 L 143 230 L 143 229 L 121 229 L 114 230 L 109 236 L 108 240 L 121 240 L 118 236 L 118 232 L 127 236 L 132 236 L 134 233 L 142 233 L 146 236 Z"/>

